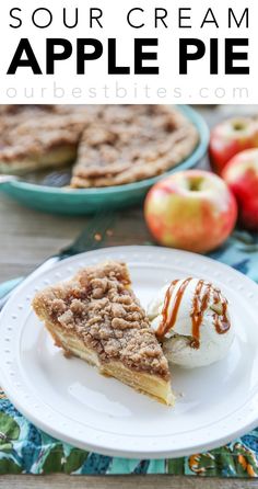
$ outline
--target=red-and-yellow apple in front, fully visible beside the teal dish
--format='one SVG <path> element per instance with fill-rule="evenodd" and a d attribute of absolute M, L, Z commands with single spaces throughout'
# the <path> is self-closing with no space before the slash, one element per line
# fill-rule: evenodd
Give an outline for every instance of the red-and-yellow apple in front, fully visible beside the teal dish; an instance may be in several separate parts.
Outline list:
<path fill-rule="evenodd" d="M 161 244 L 202 253 L 220 246 L 232 232 L 237 206 L 220 177 L 188 170 L 161 180 L 150 190 L 144 216 Z"/>

